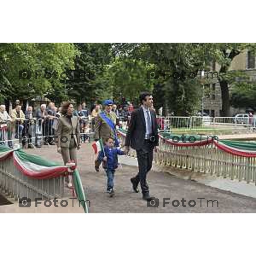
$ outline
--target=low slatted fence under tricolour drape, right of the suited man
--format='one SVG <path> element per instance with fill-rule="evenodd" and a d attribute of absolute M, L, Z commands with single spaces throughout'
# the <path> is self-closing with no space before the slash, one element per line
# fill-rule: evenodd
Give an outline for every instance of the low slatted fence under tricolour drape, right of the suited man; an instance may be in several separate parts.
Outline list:
<path fill-rule="evenodd" d="M 121 137 L 125 144 L 125 134 Z M 131 149 L 131 157 L 136 151 Z M 201 146 L 178 146 L 160 139 L 154 152 L 154 161 L 162 166 L 174 166 L 190 172 L 202 172 L 231 180 L 246 181 L 256 185 L 256 157 L 241 157 L 220 150 L 214 143 Z"/>

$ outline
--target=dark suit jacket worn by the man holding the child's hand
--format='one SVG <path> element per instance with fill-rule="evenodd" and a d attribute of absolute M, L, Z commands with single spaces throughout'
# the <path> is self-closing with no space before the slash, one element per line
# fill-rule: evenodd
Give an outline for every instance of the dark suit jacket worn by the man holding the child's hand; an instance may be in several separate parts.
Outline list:
<path fill-rule="evenodd" d="M 152 142 L 152 145 L 158 145 L 158 131 L 157 131 L 157 119 L 156 113 L 154 111 L 150 111 L 151 113 L 151 121 L 152 121 L 152 133 L 155 137 L 155 141 Z M 131 146 L 135 150 L 140 150 L 143 148 L 143 143 L 145 140 L 146 134 L 146 124 L 143 108 L 138 108 L 133 111 L 131 114 L 131 120 L 129 123 L 128 131 L 125 139 L 125 146 Z"/>

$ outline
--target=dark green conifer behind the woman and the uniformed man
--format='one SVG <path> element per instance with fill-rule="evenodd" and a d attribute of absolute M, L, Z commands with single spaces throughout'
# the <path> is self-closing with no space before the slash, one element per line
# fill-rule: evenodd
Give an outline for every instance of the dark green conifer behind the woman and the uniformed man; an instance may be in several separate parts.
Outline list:
<path fill-rule="evenodd" d="M 109 90 L 105 72 L 113 59 L 111 44 L 76 43 L 81 55 L 76 58 L 75 69 L 86 73 L 75 76 L 74 80 L 67 81 L 67 95 L 80 103 L 86 101 L 93 103 L 102 96 L 107 96 Z M 82 78 L 82 79 L 81 79 Z"/>

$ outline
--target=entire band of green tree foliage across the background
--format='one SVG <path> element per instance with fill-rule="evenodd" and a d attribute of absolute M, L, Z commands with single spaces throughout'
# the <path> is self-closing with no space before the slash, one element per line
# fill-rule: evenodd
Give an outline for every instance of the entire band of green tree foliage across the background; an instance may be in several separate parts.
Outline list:
<path fill-rule="evenodd" d="M 191 115 L 200 109 L 201 86 L 211 79 L 164 79 L 162 70 L 198 72 L 212 62 L 220 65 L 223 114 L 229 105 L 253 108 L 255 84 L 244 71 L 230 71 L 232 60 L 255 43 L 14 43 L 0 44 L 0 100 L 47 96 L 59 104 L 74 100 L 88 104 L 120 97 L 137 103 L 143 90 L 153 92 L 154 107 L 176 115 Z M 31 80 L 20 80 L 19 70 L 30 70 Z M 148 80 L 147 70 L 160 70 L 159 80 Z M 36 70 L 77 70 L 74 79 L 35 79 Z M 79 73 L 86 73 L 81 79 Z M 89 75 L 90 74 L 90 75 Z M 230 90 L 231 88 L 231 90 Z M 231 92 L 231 93 L 230 93 Z"/>

